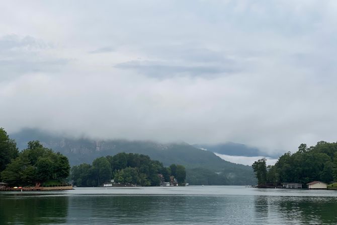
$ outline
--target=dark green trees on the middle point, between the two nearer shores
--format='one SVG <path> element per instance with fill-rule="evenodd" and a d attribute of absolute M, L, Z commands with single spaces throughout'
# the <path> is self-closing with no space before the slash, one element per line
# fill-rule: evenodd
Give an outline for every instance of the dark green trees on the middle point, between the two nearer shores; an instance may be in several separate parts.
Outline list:
<path fill-rule="evenodd" d="M 184 166 L 164 167 L 161 162 L 141 154 L 118 153 L 97 158 L 92 165 L 83 163 L 71 168 L 71 179 L 79 187 L 101 186 L 111 179 L 125 185 L 158 186 L 158 174 L 163 175 L 165 182 L 170 182 L 170 177 L 174 176 L 178 183 L 185 183 Z"/>

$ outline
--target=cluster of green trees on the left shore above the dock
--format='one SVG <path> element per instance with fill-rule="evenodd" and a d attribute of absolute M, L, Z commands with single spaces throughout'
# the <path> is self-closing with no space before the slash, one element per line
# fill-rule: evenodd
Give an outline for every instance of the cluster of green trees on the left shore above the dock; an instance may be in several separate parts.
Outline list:
<path fill-rule="evenodd" d="M 19 152 L 16 142 L 0 128 L 0 177 L 16 186 L 40 186 L 46 181 L 63 182 L 70 172 L 68 158 L 37 141 L 29 141 L 28 148 Z"/>

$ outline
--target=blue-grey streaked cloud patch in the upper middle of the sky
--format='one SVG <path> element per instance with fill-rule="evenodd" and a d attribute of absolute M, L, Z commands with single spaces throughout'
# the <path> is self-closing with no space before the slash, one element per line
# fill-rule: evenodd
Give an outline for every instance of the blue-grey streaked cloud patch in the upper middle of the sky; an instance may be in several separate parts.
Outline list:
<path fill-rule="evenodd" d="M 144 49 L 146 50 L 160 60 L 130 60 L 117 63 L 114 67 L 131 69 L 145 76 L 159 79 L 175 76 L 204 76 L 207 79 L 214 79 L 217 76 L 228 76 L 242 69 L 239 62 L 229 58 L 225 52 L 207 48 L 184 48 L 181 45 L 169 45 Z"/>

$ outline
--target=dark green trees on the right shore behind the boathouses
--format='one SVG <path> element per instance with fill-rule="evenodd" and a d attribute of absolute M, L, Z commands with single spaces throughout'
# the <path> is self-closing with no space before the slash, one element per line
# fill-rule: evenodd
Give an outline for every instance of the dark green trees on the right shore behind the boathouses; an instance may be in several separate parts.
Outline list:
<path fill-rule="evenodd" d="M 337 182 L 337 142 L 319 141 L 310 147 L 302 143 L 296 153 L 284 154 L 274 166 L 267 166 L 263 158 L 252 164 L 252 169 L 259 186 Z"/>

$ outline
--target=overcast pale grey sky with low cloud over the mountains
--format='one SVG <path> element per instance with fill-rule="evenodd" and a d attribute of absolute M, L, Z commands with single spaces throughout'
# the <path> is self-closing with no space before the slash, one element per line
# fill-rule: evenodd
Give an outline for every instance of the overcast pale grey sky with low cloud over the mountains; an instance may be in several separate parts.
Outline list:
<path fill-rule="evenodd" d="M 337 1 L 2 1 L 0 126 L 336 141 Z"/>

